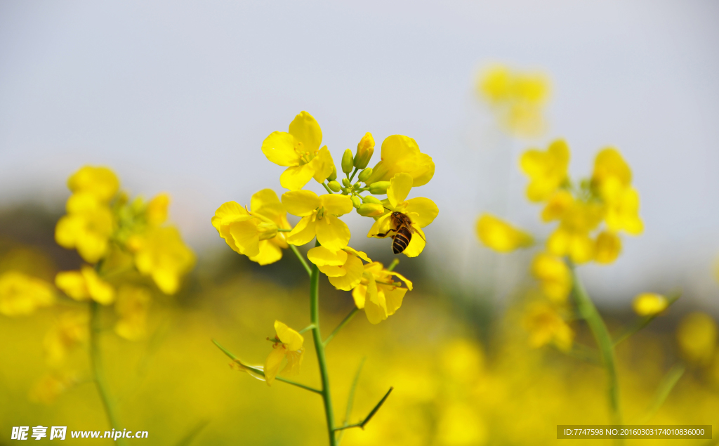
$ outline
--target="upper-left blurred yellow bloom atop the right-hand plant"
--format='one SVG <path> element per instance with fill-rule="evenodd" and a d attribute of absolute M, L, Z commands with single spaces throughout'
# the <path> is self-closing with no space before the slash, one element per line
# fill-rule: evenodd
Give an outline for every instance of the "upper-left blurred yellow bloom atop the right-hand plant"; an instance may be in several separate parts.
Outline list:
<path fill-rule="evenodd" d="M 569 147 L 564 140 L 556 140 L 546 151 L 527 150 L 520 165 L 529 177 L 527 198 L 529 201 L 545 201 L 567 181 Z"/>

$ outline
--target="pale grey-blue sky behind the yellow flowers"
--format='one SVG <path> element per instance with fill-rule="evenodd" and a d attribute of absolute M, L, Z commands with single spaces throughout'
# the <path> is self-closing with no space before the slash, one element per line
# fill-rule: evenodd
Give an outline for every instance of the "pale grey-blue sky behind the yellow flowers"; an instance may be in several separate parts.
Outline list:
<path fill-rule="evenodd" d="M 69 173 L 107 164 L 133 192 L 173 194 L 193 245 L 219 244 L 214 209 L 281 192 L 260 145 L 307 110 L 336 160 L 367 131 L 418 141 L 436 161 L 417 190 L 440 207 L 428 249 L 469 278 L 493 258 L 471 233 L 480 211 L 540 229 L 516 168 L 528 143 L 492 137 L 472 96 L 497 60 L 549 73 L 551 127 L 536 143 L 567 138 L 573 173 L 605 145 L 633 167 L 646 233 L 587 268 L 596 293 L 659 281 L 713 305 L 718 44 L 715 1 L 3 0 L 0 199 L 58 203 Z M 367 225 L 351 223 L 361 239 Z"/>

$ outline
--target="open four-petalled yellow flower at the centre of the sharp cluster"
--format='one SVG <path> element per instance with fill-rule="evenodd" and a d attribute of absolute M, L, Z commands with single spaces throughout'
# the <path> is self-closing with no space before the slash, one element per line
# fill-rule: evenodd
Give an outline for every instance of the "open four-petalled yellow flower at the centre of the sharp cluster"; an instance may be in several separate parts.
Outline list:
<path fill-rule="evenodd" d="M 316 236 L 328 250 L 336 252 L 347 247 L 349 227 L 339 217 L 354 209 L 349 196 L 290 191 L 282 195 L 282 204 L 290 214 L 302 217 L 287 235 L 290 245 L 305 245 Z"/>

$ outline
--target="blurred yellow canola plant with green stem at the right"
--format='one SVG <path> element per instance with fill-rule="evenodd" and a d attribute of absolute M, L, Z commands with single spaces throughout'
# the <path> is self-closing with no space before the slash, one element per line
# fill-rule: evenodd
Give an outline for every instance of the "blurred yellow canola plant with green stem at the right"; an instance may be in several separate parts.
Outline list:
<path fill-rule="evenodd" d="M 495 73 L 487 81 L 487 94 L 494 92 L 499 101 L 502 88 L 508 81 L 503 73 Z M 572 181 L 569 176 L 570 152 L 567 142 L 555 140 L 546 150 L 529 149 L 520 159 L 520 168 L 528 176 L 526 198 L 541 204 L 541 222 L 551 224 L 551 234 L 544 247 L 531 263 L 531 274 L 539 282 L 546 301 L 528 306 L 523 326 L 529 333 L 533 347 L 552 344 L 567 354 L 584 352 L 586 346 L 574 342 L 574 332 L 568 324 L 567 309 L 572 309 L 587 324 L 597 343 L 597 353 L 605 367 L 608 380 L 608 402 L 615 424 L 622 419 L 618 378 L 615 367 L 615 345 L 643 328 L 651 319 L 666 311 L 674 299 L 654 293 L 642 293 L 633 301 L 633 309 L 640 319 L 635 327 L 615 339 L 608 331 L 589 293 L 577 274 L 577 265 L 595 262 L 615 262 L 622 250 L 620 235 L 640 235 L 644 223 L 639 216 L 639 196 L 632 186 L 631 168 L 614 147 L 597 153 L 589 178 Z M 533 247 L 533 237 L 523 229 L 498 217 L 483 214 L 477 220 L 477 237 L 483 245 L 498 252 L 511 252 Z M 574 299 L 569 300 L 569 296 Z M 707 325 L 707 324 L 705 324 Z M 708 325 L 707 325 L 708 326 Z M 684 329 L 690 332 L 690 329 Z M 678 334 L 679 342 L 696 338 Z M 702 333 L 708 333 L 705 329 Z M 710 335 L 705 335 L 708 339 Z M 708 344 L 708 341 L 703 341 Z M 684 345 L 682 344 L 682 345 Z M 684 347 L 687 357 L 705 358 L 698 352 L 706 348 Z M 582 356 L 582 355 L 580 355 Z"/>

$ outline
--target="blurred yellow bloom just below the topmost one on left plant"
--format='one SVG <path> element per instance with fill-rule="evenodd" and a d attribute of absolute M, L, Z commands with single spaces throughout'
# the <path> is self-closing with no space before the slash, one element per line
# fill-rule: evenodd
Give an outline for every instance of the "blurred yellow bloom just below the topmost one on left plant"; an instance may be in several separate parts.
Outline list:
<path fill-rule="evenodd" d="M 68 199 L 68 213 L 55 227 L 55 241 L 69 249 L 77 249 L 88 263 L 97 263 L 106 255 L 109 238 L 115 229 L 112 211 L 87 194 Z"/>

